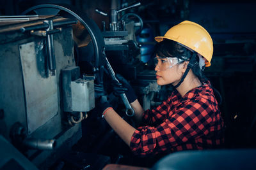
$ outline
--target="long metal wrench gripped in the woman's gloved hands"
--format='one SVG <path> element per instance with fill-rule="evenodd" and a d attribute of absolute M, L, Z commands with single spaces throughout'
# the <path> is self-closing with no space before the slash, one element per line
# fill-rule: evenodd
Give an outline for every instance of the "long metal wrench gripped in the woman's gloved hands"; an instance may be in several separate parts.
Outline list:
<path fill-rule="evenodd" d="M 116 80 L 116 81 L 119 83 L 119 80 L 116 78 L 116 76 L 115 76 L 116 74 L 115 74 L 115 72 L 113 71 L 111 65 L 109 64 L 107 57 L 105 57 L 105 58 L 106 58 L 106 63 L 107 63 L 108 70 L 109 70 L 109 72 L 110 72 L 110 74 L 111 74 L 113 80 Z M 133 110 L 131 104 L 129 103 L 129 101 L 128 101 L 126 95 L 125 95 L 125 94 L 121 94 L 120 96 L 121 96 L 121 99 L 122 99 L 122 101 L 124 102 L 124 105 L 125 105 L 125 108 L 126 108 L 125 114 L 126 114 L 128 117 L 133 117 L 133 115 L 134 115 L 134 110 Z"/>

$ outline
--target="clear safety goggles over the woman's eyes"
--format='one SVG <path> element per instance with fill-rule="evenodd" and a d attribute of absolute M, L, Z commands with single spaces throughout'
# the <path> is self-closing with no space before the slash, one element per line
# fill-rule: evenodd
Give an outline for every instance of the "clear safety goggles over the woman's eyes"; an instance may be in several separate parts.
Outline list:
<path fill-rule="evenodd" d="M 159 71 L 166 71 L 166 69 L 170 69 L 177 64 L 180 64 L 182 59 L 177 57 L 155 57 L 154 64 L 159 69 Z"/>

